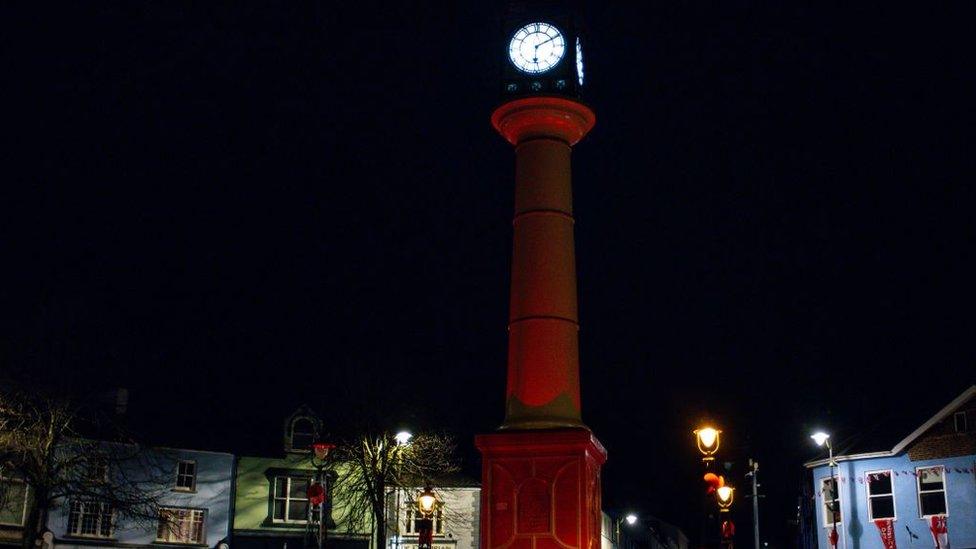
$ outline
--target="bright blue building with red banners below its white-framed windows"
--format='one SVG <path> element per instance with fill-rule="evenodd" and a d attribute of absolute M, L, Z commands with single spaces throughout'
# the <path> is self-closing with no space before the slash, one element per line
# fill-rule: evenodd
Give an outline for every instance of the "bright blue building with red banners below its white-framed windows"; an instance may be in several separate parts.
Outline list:
<path fill-rule="evenodd" d="M 819 549 L 976 548 L 976 385 L 901 436 L 806 464 Z"/>

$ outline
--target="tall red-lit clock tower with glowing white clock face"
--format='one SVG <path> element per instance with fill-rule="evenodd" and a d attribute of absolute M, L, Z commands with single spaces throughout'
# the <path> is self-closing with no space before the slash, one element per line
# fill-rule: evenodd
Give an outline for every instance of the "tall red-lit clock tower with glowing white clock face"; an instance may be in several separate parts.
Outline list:
<path fill-rule="evenodd" d="M 483 549 L 599 549 L 606 450 L 580 415 L 572 148 L 596 116 L 581 102 L 576 10 L 513 3 L 494 128 L 515 148 L 505 421 L 476 437 Z"/>

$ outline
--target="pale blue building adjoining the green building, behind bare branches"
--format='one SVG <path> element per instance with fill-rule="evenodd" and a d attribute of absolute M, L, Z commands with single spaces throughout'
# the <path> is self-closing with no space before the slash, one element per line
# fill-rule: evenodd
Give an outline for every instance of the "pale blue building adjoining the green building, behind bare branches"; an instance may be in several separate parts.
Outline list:
<path fill-rule="evenodd" d="M 234 456 L 165 448 L 145 453 L 152 462 L 152 474 L 145 472 L 145 463 L 128 471 L 99 474 L 105 475 L 109 485 L 114 478 L 138 485 L 152 497 L 154 506 L 158 504 L 156 516 L 123 516 L 95 499 L 60 501 L 48 515 L 46 549 L 173 545 L 226 549 L 233 512 Z"/>

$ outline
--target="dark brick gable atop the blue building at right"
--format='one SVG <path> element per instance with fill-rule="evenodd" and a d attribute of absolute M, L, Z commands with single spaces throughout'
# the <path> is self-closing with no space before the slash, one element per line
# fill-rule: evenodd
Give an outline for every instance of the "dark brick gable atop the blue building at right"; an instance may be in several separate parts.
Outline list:
<path fill-rule="evenodd" d="M 957 418 L 957 414 L 961 416 Z M 976 397 L 947 410 L 944 417 L 912 441 L 906 450 L 912 461 L 976 455 Z"/>

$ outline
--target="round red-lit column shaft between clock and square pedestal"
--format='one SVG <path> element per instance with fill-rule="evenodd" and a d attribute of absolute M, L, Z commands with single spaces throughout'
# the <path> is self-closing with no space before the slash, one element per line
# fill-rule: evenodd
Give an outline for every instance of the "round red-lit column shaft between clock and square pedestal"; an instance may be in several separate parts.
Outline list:
<path fill-rule="evenodd" d="M 504 429 L 585 427 L 570 155 L 595 120 L 559 97 L 517 99 L 492 115 L 516 155 Z"/>

